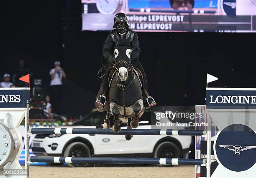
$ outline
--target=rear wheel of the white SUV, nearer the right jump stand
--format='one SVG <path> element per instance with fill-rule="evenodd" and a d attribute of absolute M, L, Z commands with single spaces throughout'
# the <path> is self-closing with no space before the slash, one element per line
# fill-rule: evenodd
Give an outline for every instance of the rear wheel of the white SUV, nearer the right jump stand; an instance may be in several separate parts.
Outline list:
<path fill-rule="evenodd" d="M 179 157 L 180 157 L 179 147 L 170 141 L 165 141 L 157 145 L 156 150 L 154 152 L 154 158 L 179 158 Z M 171 165 L 165 165 L 165 166 L 171 166 Z"/>

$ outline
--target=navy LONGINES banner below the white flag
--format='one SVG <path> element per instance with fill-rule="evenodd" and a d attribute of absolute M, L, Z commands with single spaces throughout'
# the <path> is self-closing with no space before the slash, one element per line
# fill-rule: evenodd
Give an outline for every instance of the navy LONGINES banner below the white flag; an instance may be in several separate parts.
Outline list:
<path fill-rule="evenodd" d="M 255 90 L 206 90 L 206 107 L 256 109 Z"/>

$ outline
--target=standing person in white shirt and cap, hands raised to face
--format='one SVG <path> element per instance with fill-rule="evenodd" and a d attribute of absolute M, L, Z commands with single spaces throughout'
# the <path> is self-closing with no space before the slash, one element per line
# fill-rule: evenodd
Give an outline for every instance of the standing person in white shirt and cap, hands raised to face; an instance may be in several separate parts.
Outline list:
<path fill-rule="evenodd" d="M 61 114 L 62 78 L 66 78 L 64 70 L 60 67 L 60 62 L 55 61 L 55 68 L 50 70 L 51 76 L 51 103 L 55 113 Z"/>

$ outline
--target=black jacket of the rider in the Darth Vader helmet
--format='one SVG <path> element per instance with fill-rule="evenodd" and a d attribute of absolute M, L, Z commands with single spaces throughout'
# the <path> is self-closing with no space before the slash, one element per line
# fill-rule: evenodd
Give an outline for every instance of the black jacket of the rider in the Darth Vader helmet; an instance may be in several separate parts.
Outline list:
<path fill-rule="evenodd" d="M 103 56 L 109 60 L 113 56 L 115 44 L 118 39 L 127 39 L 130 41 L 132 50 L 132 59 L 139 59 L 141 53 L 138 35 L 131 29 L 126 30 L 125 34 L 120 35 L 116 29 L 112 30 L 103 44 Z"/>

